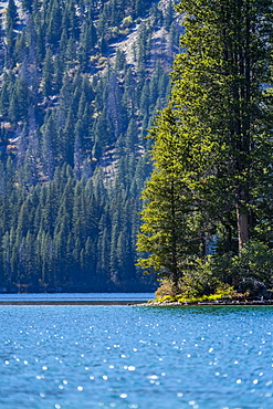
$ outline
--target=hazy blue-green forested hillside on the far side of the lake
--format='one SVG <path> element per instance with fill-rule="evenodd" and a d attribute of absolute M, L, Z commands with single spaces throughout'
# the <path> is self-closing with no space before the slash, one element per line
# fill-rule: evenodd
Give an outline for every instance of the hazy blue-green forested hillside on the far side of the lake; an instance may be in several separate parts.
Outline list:
<path fill-rule="evenodd" d="M 1 17 L 1 290 L 149 290 L 135 241 L 171 1 L 9 0 Z"/>

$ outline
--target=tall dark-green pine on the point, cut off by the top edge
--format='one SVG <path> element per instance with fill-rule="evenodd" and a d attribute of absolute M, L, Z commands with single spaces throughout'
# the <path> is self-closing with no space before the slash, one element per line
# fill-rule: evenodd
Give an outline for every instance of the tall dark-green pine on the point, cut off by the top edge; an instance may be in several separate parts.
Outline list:
<path fill-rule="evenodd" d="M 204 174 L 213 198 L 210 201 L 222 192 L 218 209 L 222 212 L 228 207 L 235 211 L 241 250 L 254 233 L 253 212 L 256 213 L 261 200 L 256 189 L 265 182 L 262 168 L 269 169 L 271 160 L 271 96 L 262 84 L 270 87 L 272 83 L 272 20 L 266 1 L 223 2 L 223 6 L 216 2 L 198 10 L 197 3 L 190 9 L 180 3 L 180 10 L 187 13 L 191 10 L 196 18 L 186 22 L 181 46 L 187 52 L 179 54 L 174 72 L 175 80 L 178 76 L 183 80 L 175 85 L 172 95 L 175 104 L 183 101 L 188 106 L 191 115 L 183 115 L 182 109 L 179 115 L 185 124 L 191 122 L 191 129 L 203 139 L 203 149 L 214 151 L 213 160 L 206 162 Z M 202 25 L 197 23 L 200 18 Z M 197 38 L 202 39 L 202 44 Z M 189 84 L 190 93 L 186 92 Z M 218 212 L 218 217 L 222 214 Z"/>

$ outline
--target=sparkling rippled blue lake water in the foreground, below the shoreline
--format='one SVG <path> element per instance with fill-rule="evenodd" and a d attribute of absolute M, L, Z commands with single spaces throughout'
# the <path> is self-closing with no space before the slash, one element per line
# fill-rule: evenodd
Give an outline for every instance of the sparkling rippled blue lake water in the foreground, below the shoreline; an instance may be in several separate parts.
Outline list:
<path fill-rule="evenodd" d="M 1 409 L 272 409 L 273 307 L 0 306 Z"/>

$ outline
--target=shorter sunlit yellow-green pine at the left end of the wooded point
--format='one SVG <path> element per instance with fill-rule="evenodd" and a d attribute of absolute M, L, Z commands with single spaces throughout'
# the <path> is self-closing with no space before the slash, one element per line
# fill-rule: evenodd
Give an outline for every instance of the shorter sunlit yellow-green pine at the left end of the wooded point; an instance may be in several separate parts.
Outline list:
<path fill-rule="evenodd" d="M 191 217 L 193 197 L 189 195 L 186 154 L 170 108 L 162 112 L 156 125 L 151 129 L 155 170 L 143 192 L 145 207 L 137 249 L 147 254 L 139 261 L 147 272 L 169 276 L 177 285 L 182 269 L 198 253 Z"/>

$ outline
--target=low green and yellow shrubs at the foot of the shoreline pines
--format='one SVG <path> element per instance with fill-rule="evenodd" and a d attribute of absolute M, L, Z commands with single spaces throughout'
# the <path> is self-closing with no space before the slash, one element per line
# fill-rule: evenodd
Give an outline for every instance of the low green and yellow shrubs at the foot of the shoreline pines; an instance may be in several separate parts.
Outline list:
<path fill-rule="evenodd" d="M 239 255 L 212 254 L 206 261 L 196 259 L 187 265 L 176 286 L 170 280 L 161 281 L 156 291 L 157 300 L 197 302 L 234 296 L 272 297 L 273 250 L 258 240 L 245 244 Z"/>

